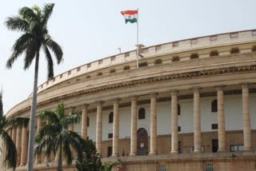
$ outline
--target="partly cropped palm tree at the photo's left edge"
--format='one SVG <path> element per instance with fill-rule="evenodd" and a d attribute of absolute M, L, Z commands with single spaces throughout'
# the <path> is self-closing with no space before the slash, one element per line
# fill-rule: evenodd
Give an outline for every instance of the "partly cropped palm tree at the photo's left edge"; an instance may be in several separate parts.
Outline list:
<path fill-rule="evenodd" d="M 4 162 L 10 168 L 16 168 L 16 161 L 17 161 L 17 150 L 14 144 L 14 141 L 6 132 L 6 129 L 10 126 L 27 126 L 29 118 L 25 117 L 14 117 L 7 119 L 6 116 L 3 115 L 2 110 L 2 92 L 0 92 L 0 137 L 1 142 L 6 147 L 6 156 L 4 157 Z"/>

